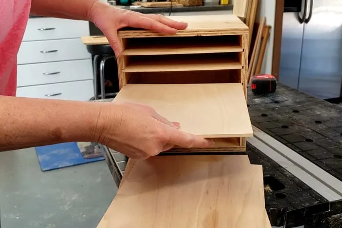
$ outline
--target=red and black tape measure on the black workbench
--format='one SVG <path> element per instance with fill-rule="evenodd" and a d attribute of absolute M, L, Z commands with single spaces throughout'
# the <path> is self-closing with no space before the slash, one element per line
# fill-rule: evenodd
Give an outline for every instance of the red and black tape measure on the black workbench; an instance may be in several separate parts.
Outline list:
<path fill-rule="evenodd" d="M 274 93 L 277 89 L 277 79 L 271 74 L 253 76 L 251 84 L 254 94 Z"/>

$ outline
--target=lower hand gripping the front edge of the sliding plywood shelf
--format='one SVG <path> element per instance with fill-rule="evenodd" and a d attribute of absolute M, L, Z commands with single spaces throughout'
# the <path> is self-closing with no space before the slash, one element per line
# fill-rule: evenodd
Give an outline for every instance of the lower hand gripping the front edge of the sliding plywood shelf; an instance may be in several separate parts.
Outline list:
<path fill-rule="evenodd" d="M 179 123 L 170 122 L 153 108 L 133 103 L 104 104 L 99 115 L 98 142 L 130 158 L 147 159 L 174 145 L 210 147 L 214 142 L 185 133 Z"/>

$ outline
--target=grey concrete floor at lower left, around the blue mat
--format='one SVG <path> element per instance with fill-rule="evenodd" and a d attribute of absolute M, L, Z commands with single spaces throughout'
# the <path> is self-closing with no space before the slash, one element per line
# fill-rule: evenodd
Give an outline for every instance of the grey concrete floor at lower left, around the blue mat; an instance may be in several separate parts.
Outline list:
<path fill-rule="evenodd" d="M 116 192 L 106 161 L 43 172 L 34 148 L 0 152 L 3 228 L 95 228 Z"/>

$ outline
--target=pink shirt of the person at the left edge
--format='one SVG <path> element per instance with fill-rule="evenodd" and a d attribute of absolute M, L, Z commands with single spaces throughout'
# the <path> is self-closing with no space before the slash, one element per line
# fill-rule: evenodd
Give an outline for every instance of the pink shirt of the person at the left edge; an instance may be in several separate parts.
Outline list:
<path fill-rule="evenodd" d="M 0 95 L 16 95 L 17 54 L 30 7 L 31 0 L 0 0 Z"/>

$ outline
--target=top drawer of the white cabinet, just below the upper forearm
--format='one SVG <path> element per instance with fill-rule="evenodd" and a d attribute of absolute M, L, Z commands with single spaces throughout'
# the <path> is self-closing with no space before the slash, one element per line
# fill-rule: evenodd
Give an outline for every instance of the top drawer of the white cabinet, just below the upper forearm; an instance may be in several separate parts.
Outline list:
<path fill-rule="evenodd" d="M 59 18 L 31 18 L 22 41 L 69 39 L 89 36 L 89 22 Z"/>

